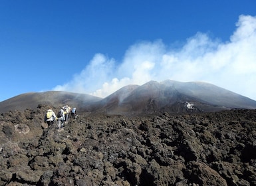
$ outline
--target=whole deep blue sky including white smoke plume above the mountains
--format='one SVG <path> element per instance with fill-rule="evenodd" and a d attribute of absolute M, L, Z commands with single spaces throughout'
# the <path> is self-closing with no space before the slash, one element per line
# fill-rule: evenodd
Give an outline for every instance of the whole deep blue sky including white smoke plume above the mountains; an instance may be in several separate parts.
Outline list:
<path fill-rule="evenodd" d="M 0 102 L 205 81 L 256 100 L 256 1 L 0 2 Z"/>

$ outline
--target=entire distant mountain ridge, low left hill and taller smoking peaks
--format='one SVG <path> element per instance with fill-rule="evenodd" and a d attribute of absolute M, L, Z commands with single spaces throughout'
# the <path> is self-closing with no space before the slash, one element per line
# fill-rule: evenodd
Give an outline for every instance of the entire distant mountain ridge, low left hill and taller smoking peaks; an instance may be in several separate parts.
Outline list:
<path fill-rule="evenodd" d="M 256 101 L 205 82 L 150 81 L 128 85 L 106 98 L 70 92 L 21 94 L 0 102 L 0 112 L 48 104 L 70 105 L 82 112 L 105 114 L 158 114 L 160 112 L 215 112 L 232 108 L 256 109 Z"/>

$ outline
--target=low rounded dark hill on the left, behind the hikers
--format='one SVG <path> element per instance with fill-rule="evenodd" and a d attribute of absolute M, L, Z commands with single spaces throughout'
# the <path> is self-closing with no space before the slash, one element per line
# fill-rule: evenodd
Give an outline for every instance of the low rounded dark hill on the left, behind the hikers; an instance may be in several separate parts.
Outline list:
<path fill-rule="evenodd" d="M 30 92 L 0 102 L 0 113 L 8 112 L 9 110 L 35 109 L 39 104 L 48 104 L 57 108 L 68 104 L 86 109 L 87 106 L 101 99 L 88 94 L 63 91 Z"/>

